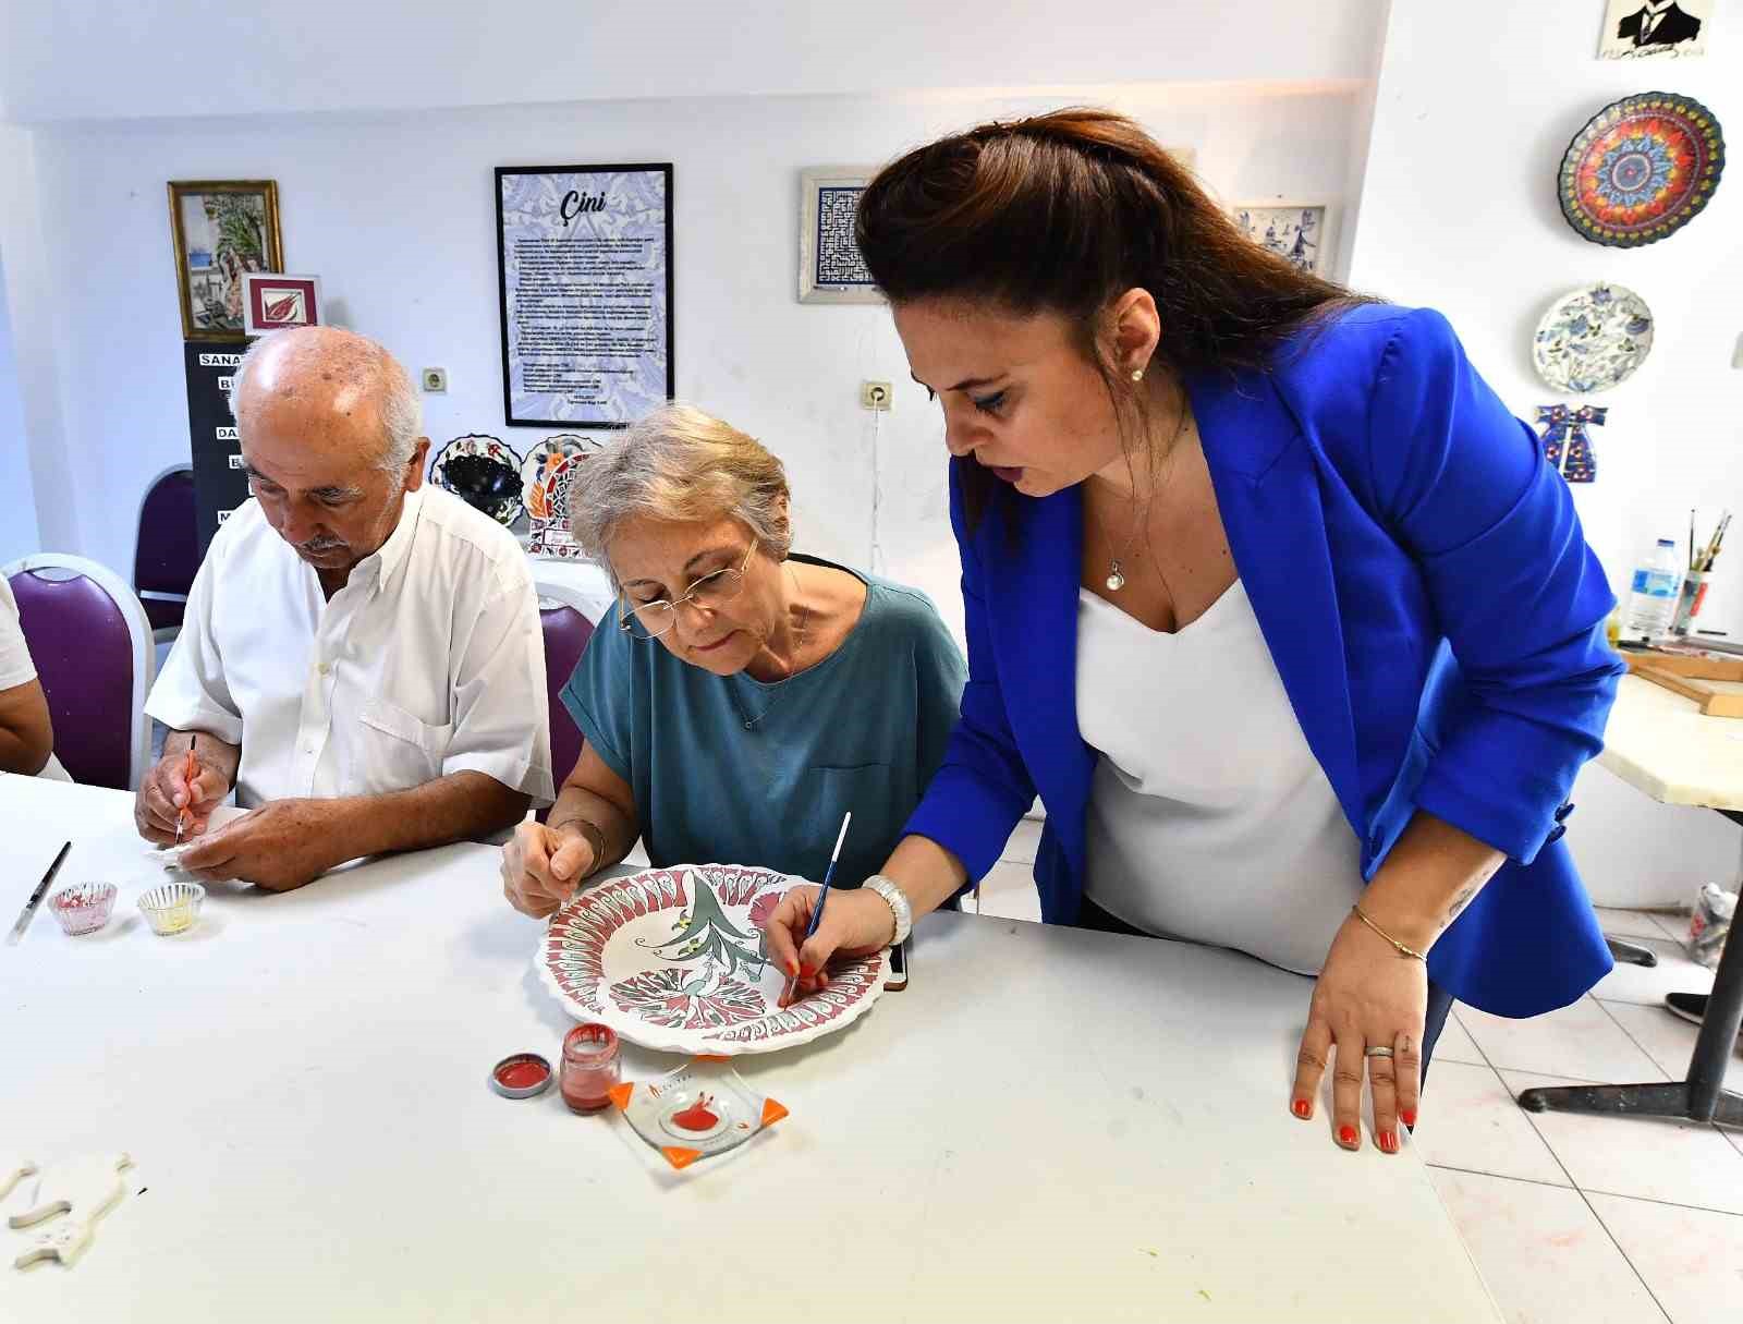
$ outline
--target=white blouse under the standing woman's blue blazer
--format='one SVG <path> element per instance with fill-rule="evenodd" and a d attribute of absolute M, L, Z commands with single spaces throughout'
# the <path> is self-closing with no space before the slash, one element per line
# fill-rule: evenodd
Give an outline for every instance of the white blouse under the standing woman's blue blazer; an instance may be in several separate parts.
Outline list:
<path fill-rule="evenodd" d="M 1171 635 L 1081 590 L 1077 724 L 1102 755 L 1089 898 L 1147 933 L 1318 973 L 1361 846 L 1241 583 Z"/>

